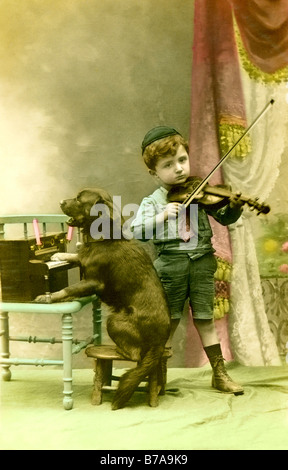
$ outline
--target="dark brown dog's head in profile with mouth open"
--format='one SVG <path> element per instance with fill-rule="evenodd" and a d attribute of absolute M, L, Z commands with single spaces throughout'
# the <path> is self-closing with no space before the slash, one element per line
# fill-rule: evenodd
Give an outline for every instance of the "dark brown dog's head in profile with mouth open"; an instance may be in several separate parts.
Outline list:
<path fill-rule="evenodd" d="M 73 199 L 60 202 L 64 214 L 70 219 L 67 221 L 71 227 L 81 227 L 84 232 L 90 233 L 91 226 L 101 217 L 102 224 L 119 224 L 122 226 L 120 211 L 113 204 L 107 191 L 99 188 L 85 188 L 79 191 Z M 105 238 L 105 237 L 104 237 Z"/>

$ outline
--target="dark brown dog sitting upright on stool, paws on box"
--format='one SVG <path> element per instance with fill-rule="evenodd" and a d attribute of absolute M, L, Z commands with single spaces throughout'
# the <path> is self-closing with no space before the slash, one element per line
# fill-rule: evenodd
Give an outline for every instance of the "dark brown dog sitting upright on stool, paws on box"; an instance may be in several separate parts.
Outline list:
<path fill-rule="evenodd" d="M 118 409 L 157 367 L 163 355 L 170 333 L 166 296 L 153 263 L 140 242 L 125 239 L 121 224 L 119 239 L 109 236 L 117 214 L 113 213 L 112 199 L 106 191 L 84 189 L 74 199 L 62 201 L 60 206 L 71 217 L 68 224 L 82 228 L 84 243 L 78 255 L 60 253 L 56 257 L 67 259 L 70 256 L 74 261 L 77 257 L 83 269 L 83 280 L 52 293 L 51 301 L 97 294 L 111 308 L 107 332 L 120 354 L 138 362 L 137 367 L 126 372 L 119 382 L 112 403 L 112 408 Z M 100 217 L 95 210 L 91 211 L 93 207 L 106 209 L 101 212 L 101 221 L 108 236 L 103 235 L 98 240 L 91 236 L 93 223 L 97 224 Z M 36 299 L 43 300 L 43 296 Z"/>

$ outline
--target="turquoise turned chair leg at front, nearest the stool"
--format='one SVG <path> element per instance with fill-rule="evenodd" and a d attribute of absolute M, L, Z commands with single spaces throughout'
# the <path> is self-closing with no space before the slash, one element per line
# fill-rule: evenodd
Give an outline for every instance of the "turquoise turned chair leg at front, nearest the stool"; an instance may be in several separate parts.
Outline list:
<path fill-rule="evenodd" d="M 64 314 L 62 316 L 62 342 L 63 342 L 63 383 L 64 398 L 63 406 L 65 410 L 73 408 L 72 398 L 72 315 Z"/>

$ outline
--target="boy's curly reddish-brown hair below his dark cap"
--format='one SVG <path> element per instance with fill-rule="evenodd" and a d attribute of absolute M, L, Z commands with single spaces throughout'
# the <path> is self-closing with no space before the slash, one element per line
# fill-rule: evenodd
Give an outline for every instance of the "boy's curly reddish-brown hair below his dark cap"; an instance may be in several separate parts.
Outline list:
<path fill-rule="evenodd" d="M 183 145 L 186 152 L 189 153 L 188 142 L 180 134 L 164 137 L 147 145 L 143 152 L 146 166 L 149 170 L 155 170 L 158 161 L 168 155 L 176 155 L 180 145 Z"/>

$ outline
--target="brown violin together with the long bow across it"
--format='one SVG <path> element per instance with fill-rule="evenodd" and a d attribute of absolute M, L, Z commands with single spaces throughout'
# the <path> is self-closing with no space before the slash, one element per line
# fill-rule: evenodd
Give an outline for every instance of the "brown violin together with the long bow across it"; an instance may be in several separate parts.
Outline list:
<path fill-rule="evenodd" d="M 271 105 L 273 105 L 274 100 L 271 99 L 263 108 L 261 113 L 254 119 L 254 121 L 250 124 L 250 126 L 245 129 L 243 134 L 239 137 L 239 139 L 232 145 L 232 147 L 223 155 L 221 160 L 215 165 L 213 170 L 203 179 L 198 177 L 190 177 L 188 178 L 187 182 L 184 184 L 177 185 L 170 189 L 168 192 L 168 200 L 170 202 L 181 202 L 186 208 L 196 200 L 197 203 L 202 204 L 203 206 L 213 206 L 214 204 L 218 204 L 218 207 L 226 206 L 232 197 L 238 197 L 244 204 L 248 204 L 252 210 L 256 209 L 258 214 L 268 214 L 270 212 L 270 207 L 264 203 L 259 202 L 259 198 L 252 199 L 247 196 L 242 196 L 241 193 L 232 193 L 231 188 L 226 185 L 216 185 L 210 186 L 208 185 L 208 180 L 213 176 L 213 174 L 220 168 L 221 165 L 225 162 L 227 157 L 230 155 L 232 150 L 240 143 L 240 141 L 245 137 L 245 135 L 255 126 L 258 120 L 263 116 L 263 114 L 269 109 Z M 214 199 L 213 199 L 214 198 Z M 215 199 L 216 198 L 216 199 Z M 216 209 L 216 205 L 214 208 Z"/>

